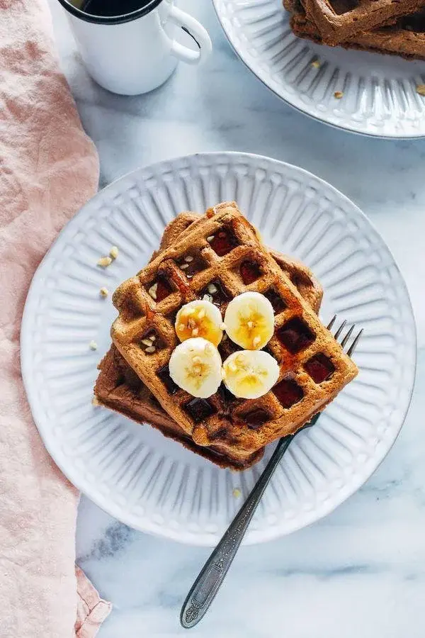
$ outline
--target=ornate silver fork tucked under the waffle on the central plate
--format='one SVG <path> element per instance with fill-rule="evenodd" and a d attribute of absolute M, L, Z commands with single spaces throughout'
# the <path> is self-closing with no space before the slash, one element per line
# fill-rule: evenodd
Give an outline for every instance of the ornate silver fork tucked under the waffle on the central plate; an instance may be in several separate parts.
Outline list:
<path fill-rule="evenodd" d="M 331 330 L 335 321 L 336 315 L 334 315 L 327 325 L 328 330 Z M 343 321 L 336 330 L 334 338 L 337 341 L 339 340 L 339 337 L 342 336 L 342 332 L 345 327 L 346 321 Z M 353 354 L 363 332 L 363 329 L 360 330 L 356 337 L 353 337 L 351 345 L 349 345 L 348 342 L 351 340 L 351 335 L 353 335 L 355 329 L 356 324 L 353 324 L 351 328 L 347 330 L 345 336 L 341 339 L 341 347 L 343 347 L 343 349 L 347 347 L 348 357 L 351 357 Z M 249 523 L 254 516 L 261 497 L 273 476 L 273 472 L 280 463 L 283 454 L 285 454 L 290 443 L 295 439 L 297 434 L 302 430 L 306 430 L 307 427 L 312 427 L 312 425 L 314 425 L 314 423 L 316 423 L 319 419 L 319 416 L 320 414 L 315 415 L 311 421 L 301 427 L 300 430 L 295 432 L 295 434 L 282 437 L 278 442 L 278 445 L 273 452 L 270 461 L 268 461 L 263 474 L 261 474 L 254 488 L 252 488 L 252 491 L 244 505 L 242 505 L 242 508 L 240 508 L 229 527 L 227 527 L 227 530 L 222 536 L 219 544 L 213 550 L 212 554 L 210 554 L 209 559 L 200 571 L 198 578 L 196 578 L 196 581 L 191 587 L 191 591 L 189 591 L 187 598 L 183 603 L 180 613 L 180 622 L 185 629 L 191 629 L 191 627 L 198 625 L 198 622 L 202 620 L 205 613 L 210 608 L 212 600 L 214 600 L 217 591 L 219 590 L 222 582 L 225 580 L 227 571 L 229 571 L 229 567 L 232 564 L 234 556 L 237 554 L 237 550 L 239 549 L 239 545 L 241 544 L 245 532 L 249 527 Z"/>

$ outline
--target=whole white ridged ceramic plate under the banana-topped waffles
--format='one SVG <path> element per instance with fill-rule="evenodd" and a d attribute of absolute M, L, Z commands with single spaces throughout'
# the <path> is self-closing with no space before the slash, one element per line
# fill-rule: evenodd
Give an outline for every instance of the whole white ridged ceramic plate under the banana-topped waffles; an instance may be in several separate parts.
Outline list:
<path fill-rule="evenodd" d="M 23 379 L 46 447 L 72 483 L 128 525 L 193 544 L 217 542 L 242 501 L 234 488 L 246 495 L 264 461 L 242 474 L 220 470 L 153 428 L 91 405 L 115 316 L 99 289 L 113 291 L 135 274 L 177 213 L 229 199 L 268 245 L 312 267 L 325 289 L 323 320 L 338 313 L 365 328 L 358 378 L 291 445 L 248 542 L 297 530 L 360 487 L 394 442 L 414 381 L 414 319 L 402 276 L 368 219 L 329 184 L 266 157 L 212 153 L 139 169 L 101 191 L 35 274 Z M 97 267 L 112 245 L 118 259 Z"/>

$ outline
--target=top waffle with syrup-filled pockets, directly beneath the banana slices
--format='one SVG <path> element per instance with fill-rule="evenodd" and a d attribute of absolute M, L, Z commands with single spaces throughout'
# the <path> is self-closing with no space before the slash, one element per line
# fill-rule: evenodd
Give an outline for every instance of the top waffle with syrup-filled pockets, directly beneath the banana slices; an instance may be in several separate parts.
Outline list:
<path fill-rule="evenodd" d="M 200 267 L 190 278 L 181 269 L 188 255 Z M 242 281 L 245 264 L 258 272 L 250 284 Z M 278 384 L 251 401 L 227 391 L 208 399 L 193 398 L 171 381 L 168 372 L 171 352 L 178 344 L 176 311 L 208 293 L 224 311 L 230 299 L 248 290 L 266 296 L 273 291 L 280 303 L 267 347 L 280 364 Z M 119 310 L 111 331 L 115 346 L 164 410 L 199 445 L 256 452 L 295 432 L 357 374 L 356 365 L 268 254 L 235 203 L 210 209 L 193 230 L 125 281 L 113 301 Z M 152 335 L 155 347 L 147 349 L 143 340 Z M 228 339 L 222 346 L 225 354 L 235 348 Z M 318 381 L 319 376 L 325 380 Z"/>

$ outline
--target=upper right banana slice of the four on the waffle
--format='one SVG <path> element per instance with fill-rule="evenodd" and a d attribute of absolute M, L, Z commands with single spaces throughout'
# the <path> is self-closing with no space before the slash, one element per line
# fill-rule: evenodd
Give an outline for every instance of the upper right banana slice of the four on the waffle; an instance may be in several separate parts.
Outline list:
<path fill-rule="evenodd" d="M 260 350 L 273 336 L 273 306 L 261 293 L 242 293 L 227 306 L 225 330 L 237 345 Z"/>

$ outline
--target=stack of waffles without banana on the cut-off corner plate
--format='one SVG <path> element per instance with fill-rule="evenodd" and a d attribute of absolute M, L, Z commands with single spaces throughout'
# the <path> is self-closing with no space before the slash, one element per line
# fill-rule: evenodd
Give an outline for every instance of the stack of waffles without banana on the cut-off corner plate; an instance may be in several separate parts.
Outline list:
<path fill-rule="evenodd" d="M 283 4 L 299 38 L 425 60 L 425 0 L 283 0 Z"/>

